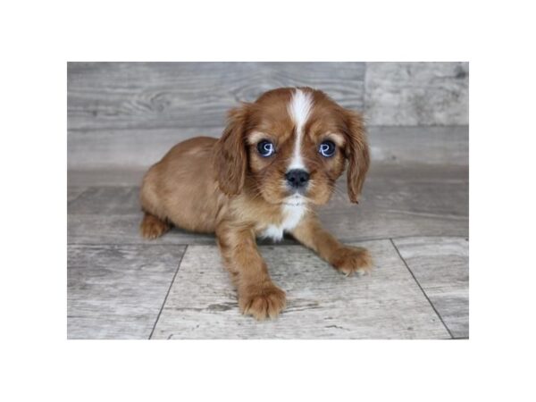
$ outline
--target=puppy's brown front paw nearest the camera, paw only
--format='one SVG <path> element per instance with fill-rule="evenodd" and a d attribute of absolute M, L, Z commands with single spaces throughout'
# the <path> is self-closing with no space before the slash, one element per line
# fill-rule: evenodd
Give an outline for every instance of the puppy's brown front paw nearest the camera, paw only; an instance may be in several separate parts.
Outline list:
<path fill-rule="evenodd" d="M 275 318 L 285 306 L 285 292 L 272 283 L 239 293 L 240 311 L 242 314 L 253 315 L 257 320 Z"/>

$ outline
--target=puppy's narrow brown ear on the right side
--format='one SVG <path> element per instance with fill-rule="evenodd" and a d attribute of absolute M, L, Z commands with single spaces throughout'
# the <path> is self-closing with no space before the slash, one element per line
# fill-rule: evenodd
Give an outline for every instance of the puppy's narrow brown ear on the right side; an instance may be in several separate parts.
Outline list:
<path fill-rule="evenodd" d="M 364 177 L 370 164 L 369 147 L 364 130 L 363 117 L 359 113 L 344 111 L 346 122 L 348 158 L 348 196 L 350 201 L 357 203 L 363 188 Z"/>

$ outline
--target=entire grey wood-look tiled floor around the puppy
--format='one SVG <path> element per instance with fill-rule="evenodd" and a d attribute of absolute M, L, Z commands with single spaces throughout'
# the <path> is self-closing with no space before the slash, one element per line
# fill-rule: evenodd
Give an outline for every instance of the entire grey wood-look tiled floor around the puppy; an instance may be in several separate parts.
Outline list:
<path fill-rule="evenodd" d="M 368 247 L 371 276 L 335 272 L 292 239 L 262 242 L 287 292 L 279 319 L 239 314 L 214 237 L 138 235 L 140 172 L 70 172 L 70 339 L 467 338 L 468 170 L 376 164 L 359 205 L 344 180 L 322 207 L 339 239 Z"/>

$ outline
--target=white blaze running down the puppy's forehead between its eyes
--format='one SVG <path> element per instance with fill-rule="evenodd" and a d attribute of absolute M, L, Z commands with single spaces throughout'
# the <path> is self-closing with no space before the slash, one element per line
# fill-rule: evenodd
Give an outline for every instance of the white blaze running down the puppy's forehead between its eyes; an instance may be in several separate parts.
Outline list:
<path fill-rule="evenodd" d="M 292 94 L 289 103 L 289 114 L 296 127 L 296 143 L 290 160 L 289 171 L 292 169 L 306 170 L 306 166 L 301 155 L 301 143 L 304 137 L 304 127 L 313 108 L 313 97 L 310 93 L 301 89 L 296 89 Z"/>

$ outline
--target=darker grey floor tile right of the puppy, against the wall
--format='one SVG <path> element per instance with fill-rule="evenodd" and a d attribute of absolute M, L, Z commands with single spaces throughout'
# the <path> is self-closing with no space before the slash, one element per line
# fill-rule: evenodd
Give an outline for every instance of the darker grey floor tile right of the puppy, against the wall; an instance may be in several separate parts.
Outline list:
<path fill-rule="evenodd" d="M 346 184 L 320 209 L 324 226 L 339 239 L 467 236 L 468 170 L 465 167 L 373 166 L 358 205 Z"/>

